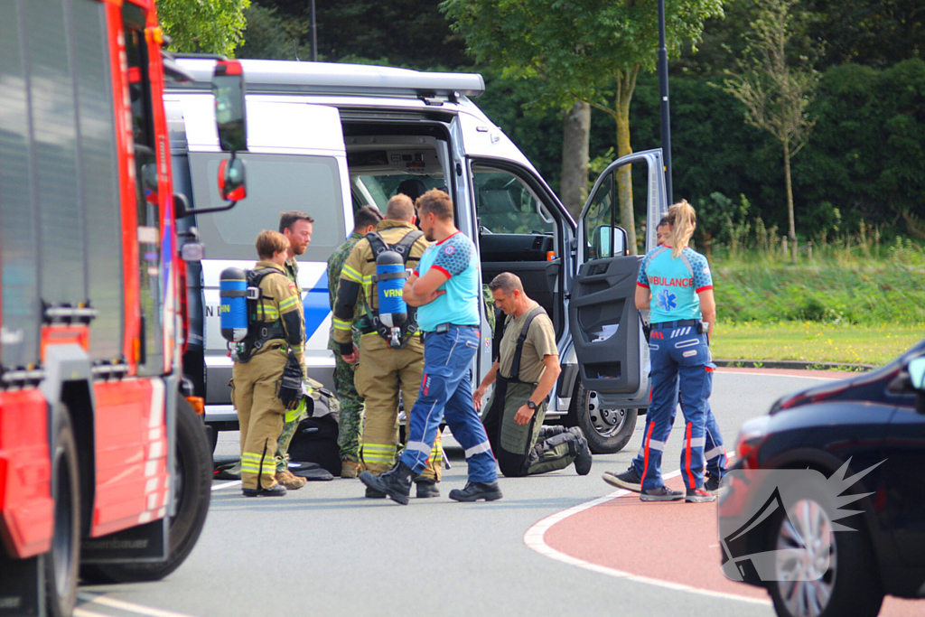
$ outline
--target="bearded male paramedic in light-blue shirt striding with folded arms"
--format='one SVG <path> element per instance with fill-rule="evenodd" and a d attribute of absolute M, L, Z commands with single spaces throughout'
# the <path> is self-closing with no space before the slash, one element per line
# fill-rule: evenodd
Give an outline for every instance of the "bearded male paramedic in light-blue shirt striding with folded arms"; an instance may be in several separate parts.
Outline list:
<path fill-rule="evenodd" d="M 403 298 L 417 306 L 424 332 L 424 376 L 409 414 L 408 442 L 388 472 L 360 475 L 367 487 L 408 503 L 413 478 L 424 471 L 441 420 L 465 450 L 469 481 L 450 491 L 457 501 L 499 500 L 498 472 L 485 427 L 475 411 L 470 366 L 479 345 L 478 254 L 453 225 L 453 204 L 443 191 L 427 191 L 417 200 L 425 238 L 434 242 L 421 255 L 405 282 Z"/>

